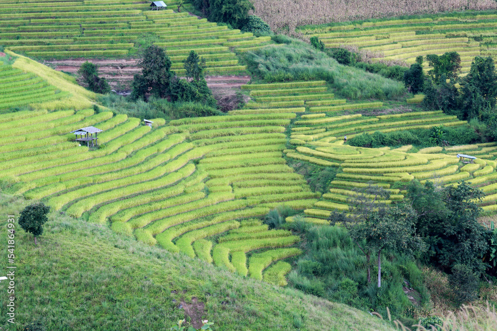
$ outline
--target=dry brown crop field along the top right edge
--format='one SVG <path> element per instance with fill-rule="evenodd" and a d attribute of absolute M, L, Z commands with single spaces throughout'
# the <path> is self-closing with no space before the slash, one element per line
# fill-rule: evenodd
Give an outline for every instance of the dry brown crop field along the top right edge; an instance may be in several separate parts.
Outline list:
<path fill-rule="evenodd" d="M 342 22 L 421 13 L 455 10 L 497 9 L 495 0 L 252 0 L 255 15 L 266 21 L 273 31 L 293 33 L 307 24 Z"/>

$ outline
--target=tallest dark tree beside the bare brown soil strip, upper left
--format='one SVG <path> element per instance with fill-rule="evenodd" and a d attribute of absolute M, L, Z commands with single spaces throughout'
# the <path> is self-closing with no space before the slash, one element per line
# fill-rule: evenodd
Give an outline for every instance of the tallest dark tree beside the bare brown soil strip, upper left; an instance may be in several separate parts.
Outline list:
<path fill-rule="evenodd" d="M 143 59 L 138 63 L 142 68 L 141 74 L 135 74 L 131 97 L 138 99 L 145 98 L 145 93 L 165 98 L 169 94 L 169 81 L 171 78 L 171 61 L 166 55 L 166 51 L 158 46 L 149 46 L 143 55 Z"/>

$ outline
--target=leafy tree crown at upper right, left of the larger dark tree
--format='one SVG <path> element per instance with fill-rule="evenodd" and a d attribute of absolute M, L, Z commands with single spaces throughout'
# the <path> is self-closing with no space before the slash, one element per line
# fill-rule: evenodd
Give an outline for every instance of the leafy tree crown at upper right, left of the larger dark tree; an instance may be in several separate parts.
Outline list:
<path fill-rule="evenodd" d="M 461 73 L 461 57 L 457 52 L 447 52 L 443 55 L 429 54 L 426 56 L 429 65 L 433 67 L 428 71 L 435 83 L 441 83 L 448 79 L 458 79 Z"/>

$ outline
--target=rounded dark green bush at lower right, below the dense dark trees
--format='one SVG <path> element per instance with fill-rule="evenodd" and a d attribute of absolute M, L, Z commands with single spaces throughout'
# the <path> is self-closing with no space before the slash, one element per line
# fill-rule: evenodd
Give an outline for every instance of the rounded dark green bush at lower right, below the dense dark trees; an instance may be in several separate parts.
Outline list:
<path fill-rule="evenodd" d="M 478 299 L 479 281 L 473 270 L 468 265 L 457 264 L 452 267 L 449 284 L 454 289 L 454 294 L 459 304 Z"/>

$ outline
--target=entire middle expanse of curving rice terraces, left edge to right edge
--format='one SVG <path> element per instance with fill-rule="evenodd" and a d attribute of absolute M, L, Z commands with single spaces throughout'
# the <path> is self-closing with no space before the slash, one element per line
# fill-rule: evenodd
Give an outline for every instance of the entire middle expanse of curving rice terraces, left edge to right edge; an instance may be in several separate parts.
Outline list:
<path fill-rule="evenodd" d="M 17 61 L 29 64 L 24 58 Z M 19 66 L 17 61 L 13 66 Z M 28 67 L 40 76 L 55 74 L 41 65 Z M 13 72 L 8 77 L 20 74 L 32 76 Z M 167 125 L 153 119 L 153 128 L 105 109 L 98 114 L 76 108 L 0 115 L 0 178 L 12 183 L 16 194 L 41 200 L 52 210 L 280 285 L 291 268 L 283 260 L 301 252 L 297 236 L 268 230 L 261 222 L 278 205 L 305 210 L 307 220 L 326 223 L 331 210 L 348 210 L 347 198 L 355 187 L 373 181 L 390 189 L 396 181 L 426 180 L 436 172 L 444 184 L 471 179 L 488 194 L 484 209 L 497 210 L 497 161 L 492 160 L 497 145 L 446 151 L 477 154 L 475 164 L 463 165 L 436 148 L 409 153 L 410 146 L 356 148 L 341 140 L 343 134 L 465 122 L 440 112 L 333 116 L 382 104 L 335 99 L 324 81 L 250 84 L 244 89 L 252 97 L 244 109 Z M 72 97 L 78 96 L 79 90 L 73 90 Z M 68 133 L 88 126 L 104 131 L 98 134 L 99 148 L 80 146 Z M 286 165 L 284 154 L 342 172 L 331 192 L 321 197 Z M 391 193 L 389 201 L 403 199 L 404 192 Z"/>

